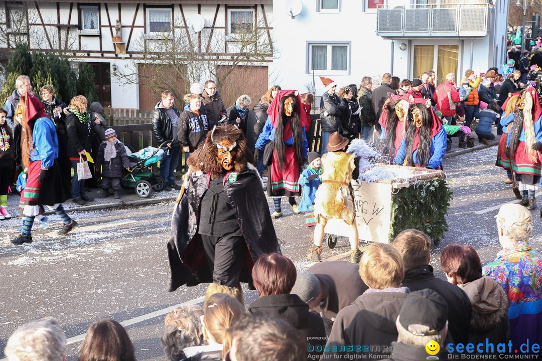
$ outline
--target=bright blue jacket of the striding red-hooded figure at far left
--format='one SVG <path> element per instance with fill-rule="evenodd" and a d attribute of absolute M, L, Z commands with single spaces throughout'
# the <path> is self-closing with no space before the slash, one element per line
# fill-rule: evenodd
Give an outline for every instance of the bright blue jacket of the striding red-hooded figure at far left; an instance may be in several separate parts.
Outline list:
<path fill-rule="evenodd" d="M 55 124 L 48 117 L 38 118 L 32 131 L 34 147 L 30 161 L 41 160 L 41 168 L 50 168 L 59 156 L 59 140 L 56 137 Z"/>

